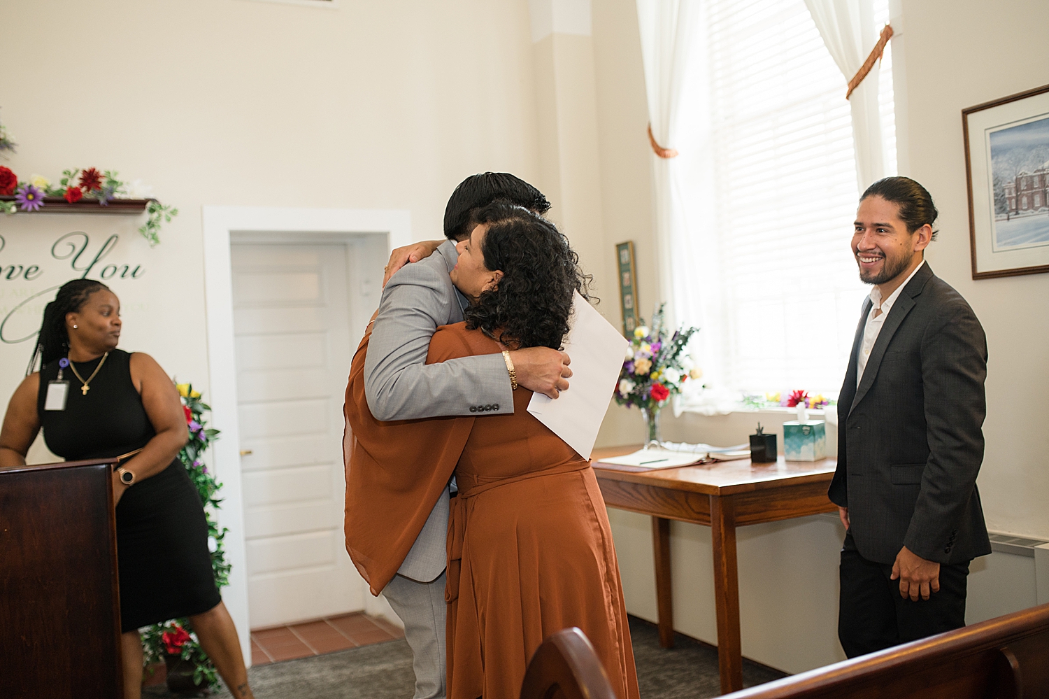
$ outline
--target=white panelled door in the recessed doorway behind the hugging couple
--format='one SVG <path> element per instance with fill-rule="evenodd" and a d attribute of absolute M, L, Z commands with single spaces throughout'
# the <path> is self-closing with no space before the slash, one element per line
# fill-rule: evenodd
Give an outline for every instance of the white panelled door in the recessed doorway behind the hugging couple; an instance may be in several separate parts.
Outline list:
<path fill-rule="evenodd" d="M 343 539 L 347 248 L 231 253 L 252 626 L 360 610 Z"/>

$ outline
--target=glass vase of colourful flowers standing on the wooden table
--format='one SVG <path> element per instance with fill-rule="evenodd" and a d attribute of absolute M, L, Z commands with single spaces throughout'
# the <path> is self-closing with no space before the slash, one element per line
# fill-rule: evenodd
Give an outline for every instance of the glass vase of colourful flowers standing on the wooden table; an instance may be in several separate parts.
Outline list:
<path fill-rule="evenodd" d="M 663 305 L 660 304 L 652 315 L 651 329 L 641 324 L 634 330 L 616 386 L 617 403 L 641 408 L 646 426 L 646 449 L 657 448 L 663 442 L 659 424 L 663 406 L 671 396 L 681 393 L 685 381 L 702 376 L 685 354 L 688 340 L 699 329 L 676 330 L 667 338 Z"/>

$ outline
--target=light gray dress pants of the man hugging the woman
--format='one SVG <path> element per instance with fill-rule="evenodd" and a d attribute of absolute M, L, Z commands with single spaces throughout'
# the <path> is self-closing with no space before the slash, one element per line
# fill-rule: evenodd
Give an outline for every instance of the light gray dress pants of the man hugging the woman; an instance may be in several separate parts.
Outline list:
<path fill-rule="evenodd" d="M 383 588 L 383 596 L 404 621 L 404 637 L 412 653 L 414 699 L 444 699 L 445 681 L 445 573 L 430 582 L 403 575 Z"/>

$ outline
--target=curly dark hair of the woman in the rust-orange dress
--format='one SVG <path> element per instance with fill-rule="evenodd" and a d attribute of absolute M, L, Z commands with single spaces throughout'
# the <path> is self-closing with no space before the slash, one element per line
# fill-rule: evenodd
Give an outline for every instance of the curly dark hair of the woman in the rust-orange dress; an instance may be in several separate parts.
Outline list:
<path fill-rule="evenodd" d="M 467 329 L 479 329 L 515 348 L 560 350 L 573 292 L 590 301 L 593 277 L 582 273 L 579 255 L 545 218 L 502 202 L 486 207 L 478 217 L 488 225 L 480 243 L 485 267 L 501 271 L 502 278 L 467 309 Z"/>

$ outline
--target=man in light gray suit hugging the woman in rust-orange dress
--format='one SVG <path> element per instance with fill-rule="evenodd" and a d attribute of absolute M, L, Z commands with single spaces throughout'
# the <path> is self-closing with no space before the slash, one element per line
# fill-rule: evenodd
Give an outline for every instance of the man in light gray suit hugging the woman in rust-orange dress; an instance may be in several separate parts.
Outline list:
<path fill-rule="evenodd" d="M 458 259 L 455 241 L 470 236 L 476 225 L 472 214 L 496 199 L 538 214 L 550 209 L 539 190 L 514 175 L 472 175 L 448 200 L 444 227 L 448 239 L 399 249 L 390 257 L 387 274 L 392 276 L 383 290 L 364 363 L 365 396 L 377 420 L 513 412 L 511 370 L 519 385 L 551 398 L 568 388 L 572 375 L 568 355 L 549 347 L 511 352 L 509 362 L 497 354 L 425 364 L 434 331 L 462 321 L 467 305 L 449 277 Z M 402 268 L 409 259 L 419 261 Z M 425 468 L 426 464 L 420 464 L 421 470 Z M 449 496 L 446 488 L 398 574 L 383 589 L 383 596 L 404 621 L 412 650 L 414 699 L 446 694 L 444 573 Z"/>

